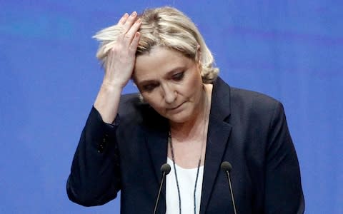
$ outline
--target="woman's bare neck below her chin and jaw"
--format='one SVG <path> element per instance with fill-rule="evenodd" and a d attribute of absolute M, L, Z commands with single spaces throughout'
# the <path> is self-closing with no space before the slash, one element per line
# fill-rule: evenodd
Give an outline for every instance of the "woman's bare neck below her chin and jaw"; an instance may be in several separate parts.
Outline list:
<path fill-rule="evenodd" d="M 202 105 L 199 105 L 197 113 L 194 113 L 191 119 L 184 123 L 174 123 L 169 121 L 170 131 L 173 137 L 180 139 L 197 138 L 199 133 L 202 133 L 204 126 L 207 126 L 205 121 L 209 121 L 209 110 L 211 108 L 211 94 L 212 84 L 204 84 L 204 93 L 202 93 L 201 101 Z"/>

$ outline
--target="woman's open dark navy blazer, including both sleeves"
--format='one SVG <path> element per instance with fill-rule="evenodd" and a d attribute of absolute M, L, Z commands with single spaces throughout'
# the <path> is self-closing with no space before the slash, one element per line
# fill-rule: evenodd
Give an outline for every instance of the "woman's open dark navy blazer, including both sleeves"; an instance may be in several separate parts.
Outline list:
<path fill-rule="evenodd" d="M 169 125 L 137 94 L 122 96 L 114 125 L 91 109 L 67 181 L 70 200 L 102 205 L 121 191 L 121 213 L 152 213 L 166 163 Z M 304 213 L 299 163 L 282 104 L 232 88 L 212 91 L 200 213 L 233 213 L 227 178 L 232 164 L 237 213 Z M 175 187 L 176 188 L 176 187 Z M 165 186 L 158 213 L 165 213 Z"/>

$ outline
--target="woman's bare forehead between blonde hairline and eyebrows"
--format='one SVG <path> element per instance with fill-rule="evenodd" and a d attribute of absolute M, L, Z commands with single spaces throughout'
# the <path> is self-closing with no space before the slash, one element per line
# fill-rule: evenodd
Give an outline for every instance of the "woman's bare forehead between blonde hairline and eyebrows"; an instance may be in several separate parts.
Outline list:
<path fill-rule="evenodd" d="M 136 57 L 134 79 L 141 81 L 145 78 L 164 76 L 177 68 L 192 66 L 192 59 L 179 51 L 164 47 L 154 47 L 149 53 Z"/>

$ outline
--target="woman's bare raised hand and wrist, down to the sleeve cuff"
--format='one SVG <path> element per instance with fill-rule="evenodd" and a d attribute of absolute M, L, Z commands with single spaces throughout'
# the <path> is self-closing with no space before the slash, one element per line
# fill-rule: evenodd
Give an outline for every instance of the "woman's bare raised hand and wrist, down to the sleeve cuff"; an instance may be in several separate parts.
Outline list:
<path fill-rule="evenodd" d="M 107 53 L 104 80 L 94 103 L 94 108 L 99 111 L 105 123 L 114 121 L 118 113 L 121 91 L 134 71 L 141 19 L 137 19 L 136 12 L 130 16 L 124 14 L 118 26 L 121 26 L 122 31 L 114 47 Z"/>

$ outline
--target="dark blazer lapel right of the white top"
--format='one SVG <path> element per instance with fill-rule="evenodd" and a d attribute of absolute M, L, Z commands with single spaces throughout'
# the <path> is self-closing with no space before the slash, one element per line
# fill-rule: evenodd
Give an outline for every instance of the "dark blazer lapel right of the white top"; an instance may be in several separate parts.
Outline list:
<path fill-rule="evenodd" d="M 229 86 L 217 78 L 212 91 L 212 104 L 209 116 L 209 131 L 204 163 L 204 178 L 202 183 L 202 199 L 200 213 L 206 213 L 207 205 L 212 195 L 215 180 L 221 170 L 224 153 L 227 151 L 232 126 L 226 122 L 230 116 Z"/>

